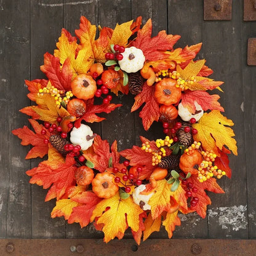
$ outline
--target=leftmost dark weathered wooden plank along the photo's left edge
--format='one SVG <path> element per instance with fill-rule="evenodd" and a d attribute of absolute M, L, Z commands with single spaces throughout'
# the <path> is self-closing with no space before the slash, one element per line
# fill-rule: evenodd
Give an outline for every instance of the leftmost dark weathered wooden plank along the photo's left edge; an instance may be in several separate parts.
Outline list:
<path fill-rule="evenodd" d="M 28 148 L 20 149 L 20 140 L 11 134 L 21 123 L 28 124 L 18 110 L 29 103 L 24 86 L 30 76 L 29 9 L 30 1 L 0 3 L 1 237 L 31 235 L 30 185 L 24 172 L 30 168 L 30 161 L 24 161 Z"/>

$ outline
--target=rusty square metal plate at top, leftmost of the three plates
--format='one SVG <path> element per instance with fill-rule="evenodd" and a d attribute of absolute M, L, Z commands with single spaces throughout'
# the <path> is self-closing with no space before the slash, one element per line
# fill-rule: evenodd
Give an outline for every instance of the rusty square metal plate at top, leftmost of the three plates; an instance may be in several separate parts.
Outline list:
<path fill-rule="evenodd" d="M 232 0 L 204 0 L 204 20 L 231 20 Z"/>

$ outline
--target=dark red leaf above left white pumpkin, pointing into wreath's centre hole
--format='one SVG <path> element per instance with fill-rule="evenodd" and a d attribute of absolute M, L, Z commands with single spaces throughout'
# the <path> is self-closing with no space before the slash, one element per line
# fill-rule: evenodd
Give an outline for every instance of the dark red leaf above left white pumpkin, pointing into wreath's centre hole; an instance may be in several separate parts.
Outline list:
<path fill-rule="evenodd" d="M 122 106 L 121 104 L 105 104 L 102 103 L 102 105 L 94 105 L 94 98 L 90 98 L 86 101 L 86 113 L 84 113 L 81 118 L 77 119 L 74 123 L 75 127 L 80 127 L 82 120 L 86 122 L 101 122 L 105 120 L 106 118 L 100 118 L 95 113 L 110 113 L 111 111 L 115 110 L 119 106 Z"/>

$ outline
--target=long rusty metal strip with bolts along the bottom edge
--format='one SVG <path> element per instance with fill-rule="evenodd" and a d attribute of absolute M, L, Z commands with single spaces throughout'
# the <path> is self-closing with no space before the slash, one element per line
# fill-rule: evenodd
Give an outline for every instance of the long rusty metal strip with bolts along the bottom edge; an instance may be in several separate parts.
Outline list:
<path fill-rule="evenodd" d="M 0 239 L 1 256 L 255 256 L 256 240 L 148 239 L 140 246 L 133 239 Z"/>

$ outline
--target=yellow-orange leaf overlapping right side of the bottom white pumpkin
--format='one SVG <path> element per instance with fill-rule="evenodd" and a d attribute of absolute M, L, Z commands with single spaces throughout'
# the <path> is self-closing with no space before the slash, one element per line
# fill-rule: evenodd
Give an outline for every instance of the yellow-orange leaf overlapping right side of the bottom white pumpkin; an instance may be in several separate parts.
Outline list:
<path fill-rule="evenodd" d="M 153 219 L 157 218 L 164 210 L 170 207 L 170 185 L 167 180 L 158 180 L 155 188 L 156 193 L 151 196 L 148 204 L 151 206 L 151 214 Z"/>

